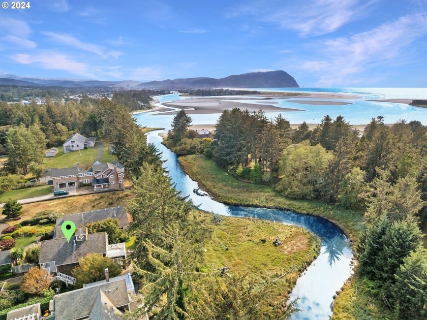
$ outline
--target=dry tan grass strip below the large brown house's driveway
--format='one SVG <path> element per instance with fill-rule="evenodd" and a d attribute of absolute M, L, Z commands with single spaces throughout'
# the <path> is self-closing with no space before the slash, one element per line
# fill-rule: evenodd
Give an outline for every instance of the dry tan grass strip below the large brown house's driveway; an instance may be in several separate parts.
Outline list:
<path fill-rule="evenodd" d="M 124 205 L 131 193 L 126 190 L 110 191 L 100 194 L 67 197 L 58 200 L 34 202 L 22 205 L 21 220 L 33 218 L 42 210 L 53 210 L 59 213 L 77 213 L 114 206 Z M 9 221 L 10 225 L 16 225 L 17 221 Z"/>

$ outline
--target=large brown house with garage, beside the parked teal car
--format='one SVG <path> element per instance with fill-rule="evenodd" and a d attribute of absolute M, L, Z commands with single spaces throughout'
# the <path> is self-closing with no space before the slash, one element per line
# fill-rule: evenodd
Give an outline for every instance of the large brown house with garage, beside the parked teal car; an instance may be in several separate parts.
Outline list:
<path fill-rule="evenodd" d="M 114 164 L 101 164 L 96 162 L 92 168 L 81 170 L 78 167 L 47 169 L 45 177 L 48 176 L 49 184 L 53 190 L 75 188 L 78 185 L 92 185 L 95 190 L 99 189 L 123 189 L 125 168 L 117 161 Z"/>

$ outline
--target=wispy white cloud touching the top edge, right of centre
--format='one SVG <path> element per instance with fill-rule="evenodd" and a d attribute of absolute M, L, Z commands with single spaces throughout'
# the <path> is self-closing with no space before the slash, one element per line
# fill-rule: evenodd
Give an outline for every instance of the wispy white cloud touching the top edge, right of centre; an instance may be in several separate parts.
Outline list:
<path fill-rule="evenodd" d="M 369 7 L 378 1 L 381 0 L 255 1 L 231 10 L 226 17 L 252 15 L 257 20 L 296 30 L 301 37 L 319 36 L 367 15 Z"/>

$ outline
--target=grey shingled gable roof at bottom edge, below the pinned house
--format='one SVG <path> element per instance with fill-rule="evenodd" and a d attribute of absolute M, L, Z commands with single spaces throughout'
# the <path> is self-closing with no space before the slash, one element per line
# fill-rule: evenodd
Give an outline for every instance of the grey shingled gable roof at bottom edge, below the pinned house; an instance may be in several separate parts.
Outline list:
<path fill-rule="evenodd" d="M 103 295 L 100 295 L 100 292 Z M 102 314 L 106 309 L 102 308 L 100 310 L 99 302 L 104 302 L 104 304 L 107 302 L 107 310 L 111 305 L 121 307 L 129 304 L 130 299 L 126 290 L 125 280 L 101 283 L 53 297 L 55 316 L 60 320 L 74 320 L 85 317 L 92 314 L 92 311 L 98 315 L 101 311 Z M 93 319 L 104 318 L 93 317 Z"/>

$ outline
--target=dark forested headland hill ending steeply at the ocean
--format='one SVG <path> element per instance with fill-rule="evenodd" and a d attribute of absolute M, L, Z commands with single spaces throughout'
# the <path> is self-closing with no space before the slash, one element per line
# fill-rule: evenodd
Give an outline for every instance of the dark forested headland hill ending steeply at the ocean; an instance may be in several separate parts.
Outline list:
<path fill-rule="evenodd" d="M 163 81 L 143 82 L 142 88 L 299 88 L 295 79 L 283 70 L 251 72 L 232 75 L 221 79 L 186 78 Z"/>

